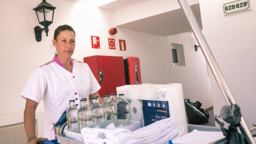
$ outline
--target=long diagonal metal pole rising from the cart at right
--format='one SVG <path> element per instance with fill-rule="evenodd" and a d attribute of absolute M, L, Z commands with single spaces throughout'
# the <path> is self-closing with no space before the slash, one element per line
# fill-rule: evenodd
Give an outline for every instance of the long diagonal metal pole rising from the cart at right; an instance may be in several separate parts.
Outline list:
<path fill-rule="evenodd" d="M 217 62 L 215 61 L 215 59 L 212 55 L 210 47 L 208 46 L 208 44 L 205 41 L 205 38 L 201 32 L 201 29 L 198 26 L 198 23 L 195 19 L 194 13 L 191 11 L 190 6 L 188 5 L 186 0 L 178 0 L 178 2 L 181 6 L 181 9 L 183 10 L 183 12 L 186 15 L 188 23 L 194 32 L 197 42 L 199 43 L 207 62 L 209 63 L 209 66 L 210 66 L 212 73 L 220 87 L 222 94 L 224 95 L 224 98 L 226 99 L 229 106 L 234 105 L 236 103 L 235 99 L 233 98 L 233 96 L 229 90 L 229 87 L 219 69 L 219 66 L 217 65 Z M 251 141 L 251 143 L 255 144 L 255 141 L 250 133 L 249 128 L 247 127 L 247 125 L 244 121 L 243 116 L 241 117 L 240 124 L 241 124 L 241 126 L 239 126 L 239 128 L 240 128 L 241 132 L 244 134 L 245 137 L 247 137 Z"/>

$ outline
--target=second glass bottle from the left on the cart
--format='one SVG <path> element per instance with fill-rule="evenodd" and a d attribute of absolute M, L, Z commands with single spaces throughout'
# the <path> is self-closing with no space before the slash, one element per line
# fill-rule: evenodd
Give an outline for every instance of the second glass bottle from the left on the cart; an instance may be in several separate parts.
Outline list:
<path fill-rule="evenodd" d="M 92 126 L 92 114 L 89 106 L 87 105 L 86 98 L 80 100 L 81 107 L 78 109 L 78 127 L 79 132 L 84 127 L 91 127 Z"/>

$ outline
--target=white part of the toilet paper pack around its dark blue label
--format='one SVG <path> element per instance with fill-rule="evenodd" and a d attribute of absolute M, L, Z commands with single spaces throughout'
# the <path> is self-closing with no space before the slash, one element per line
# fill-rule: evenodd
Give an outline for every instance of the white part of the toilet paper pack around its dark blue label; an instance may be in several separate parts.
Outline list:
<path fill-rule="evenodd" d="M 168 101 L 170 117 L 174 117 L 179 127 L 184 127 L 183 134 L 188 133 L 188 125 L 182 85 L 173 84 L 139 84 L 124 85 L 116 87 L 117 95 L 124 94 L 125 99 L 132 99 L 130 102 L 130 116 L 134 121 L 143 118 L 141 100 Z"/>

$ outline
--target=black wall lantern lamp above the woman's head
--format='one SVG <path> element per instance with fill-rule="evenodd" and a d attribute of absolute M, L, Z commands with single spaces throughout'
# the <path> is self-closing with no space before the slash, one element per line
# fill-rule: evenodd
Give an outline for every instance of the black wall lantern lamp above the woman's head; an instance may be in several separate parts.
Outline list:
<path fill-rule="evenodd" d="M 35 9 L 33 9 L 36 11 L 38 22 L 44 26 L 44 28 L 41 28 L 39 26 L 36 26 L 34 28 L 37 42 L 40 42 L 42 40 L 43 30 L 45 31 L 46 36 L 48 36 L 48 26 L 52 24 L 54 9 L 56 9 L 56 7 L 47 3 L 45 0 L 43 0 L 41 4 L 37 5 Z"/>

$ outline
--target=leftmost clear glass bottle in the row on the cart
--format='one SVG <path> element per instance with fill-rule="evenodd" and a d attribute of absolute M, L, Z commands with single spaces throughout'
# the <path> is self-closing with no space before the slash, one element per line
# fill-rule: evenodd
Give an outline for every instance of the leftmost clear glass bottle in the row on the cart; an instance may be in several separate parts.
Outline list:
<path fill-rule="evenodd" d="M 69 101 L 70 109 L 67 111 L 68 130 L 78 132 L 77 108 L 75 100 Z"/>

